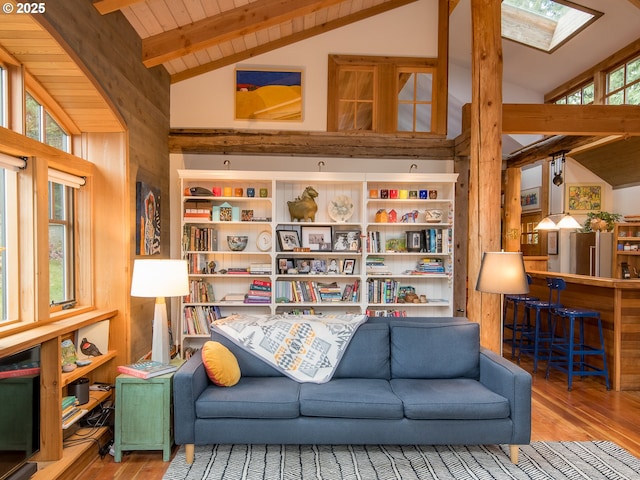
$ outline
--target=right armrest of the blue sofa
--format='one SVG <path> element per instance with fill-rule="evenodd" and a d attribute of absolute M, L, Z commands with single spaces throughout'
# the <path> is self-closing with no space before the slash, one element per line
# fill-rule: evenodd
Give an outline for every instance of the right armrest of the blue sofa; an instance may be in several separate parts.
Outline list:
<path fill-rule="evenodd" d="M 512 444 L 531 440 L 531 375 L 484 347 L 480 348 L 480 383 L 509 400 L 513 420 Z"/>

